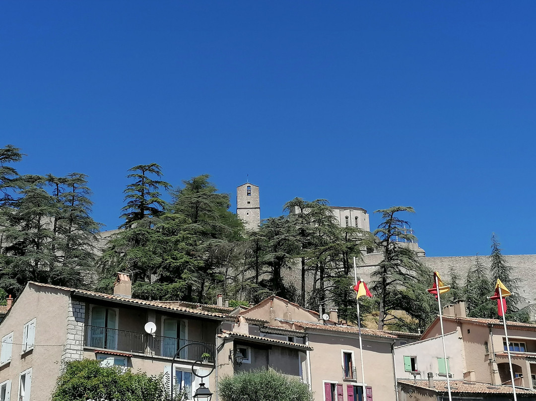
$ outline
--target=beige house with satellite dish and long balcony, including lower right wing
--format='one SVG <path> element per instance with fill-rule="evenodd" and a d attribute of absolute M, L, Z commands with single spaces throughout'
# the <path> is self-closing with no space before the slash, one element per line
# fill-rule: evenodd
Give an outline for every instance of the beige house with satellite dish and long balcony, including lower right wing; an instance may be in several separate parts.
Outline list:
<path fill-rule="evenodd" d="M 122 273 L 114 295 L 28 283 L 0 324 L 0 401 L 49 399 L 65 362 L 83 358 L 169 378 L 183 345 L 174 383 L 190 396 L 200 383 L 192 366 L 210 374 L 204 382 L 215 400 L 219 375 L 241 370 L 277 367 L 306 380 L 303 366 L 312 348 L 302 338 L 263 338 L 263 320 L 230 316 L 232 308 L 221 305 L 186 305 L 133 299 Z M 148 322 L 152 333 L 145 330 Z M 239 350 L 246 354 L 240 366 Z M 203 362 L 205 353 L 210 357 Z"/>

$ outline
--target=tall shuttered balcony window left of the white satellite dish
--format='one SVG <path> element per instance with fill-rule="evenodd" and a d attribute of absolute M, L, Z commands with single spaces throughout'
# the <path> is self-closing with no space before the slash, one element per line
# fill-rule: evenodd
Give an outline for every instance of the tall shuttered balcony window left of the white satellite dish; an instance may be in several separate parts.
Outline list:
<path fill-rule="evenodd" d="M 117 309 L 91 308 L 90 346 L 117 350 Z"/>

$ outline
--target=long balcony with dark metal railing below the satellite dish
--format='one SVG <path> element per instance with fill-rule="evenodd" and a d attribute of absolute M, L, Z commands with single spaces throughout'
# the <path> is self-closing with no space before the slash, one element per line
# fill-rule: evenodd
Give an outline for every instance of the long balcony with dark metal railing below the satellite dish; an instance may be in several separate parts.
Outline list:
<path fill-rule="evenodd" d="M 178 348 L 186 344 L 195 344 L 181 351 L 178 359 L 198 360 L 201 355 L 210 354 L 210 361 L 215 361 L 215 345 L 202 341 L 182 340 L 173 337 L 151 336 L 147 333 L 107 329 L 98 326 L 86 325 L 84 332 L 84 346 L 100 350 L 113 350 L 128 353 L 145 354 L 156 357 L 173 358 Z"/>

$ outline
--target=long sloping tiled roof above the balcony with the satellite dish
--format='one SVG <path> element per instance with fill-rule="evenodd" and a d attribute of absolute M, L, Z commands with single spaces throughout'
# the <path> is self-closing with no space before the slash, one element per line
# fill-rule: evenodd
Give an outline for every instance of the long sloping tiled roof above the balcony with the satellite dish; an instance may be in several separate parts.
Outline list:
<path fill-rule="evenodd" d="M 182 312 L 188 315 L 200 315 L 200 316 L 213 317 L 213 318 L 217 318 L 218 320 L 225 320 L 227 318 L 227 315 L 224 315 L 221 313 L 207 312 L 205 310 L 186 308 L 186 307 L 182 307 L 178 305 L 173 305 L 173 303 L 170 303 L 170 302 L 145 301 L 142 299 L 125 298 L 124 296 L 103 294 L 100 292 L 86 291 L 85 289 L 61 287 L 61 286 L 51 285 L 51 284 L 34 283 L 33 281 L 29 281 L 28 285 L 33 285 L 36 287 L 62 289 L 63 291 L 71 292 L 72 295 L 89 296 L 91 298 L 99 298 L 99 299 L 108 300 L 108 301 L 132 303 L 135 305 L 143 305 L 143 306 L 152 306 L 152 307 Z"/>

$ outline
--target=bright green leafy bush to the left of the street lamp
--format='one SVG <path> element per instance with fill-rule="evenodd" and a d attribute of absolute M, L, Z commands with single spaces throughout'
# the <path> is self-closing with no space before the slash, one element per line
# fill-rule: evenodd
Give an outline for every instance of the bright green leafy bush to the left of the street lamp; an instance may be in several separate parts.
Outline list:
<path fill-rule="evenodd" d="M 59 376 L 52 401 L 167 401 L 170 397 L 162 377 L 130 369 L 123 373 L 120 367 L 101 367 L 95 360 L 73 361 Z"/>

